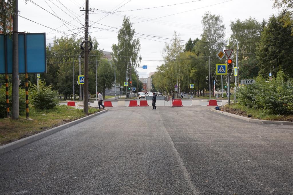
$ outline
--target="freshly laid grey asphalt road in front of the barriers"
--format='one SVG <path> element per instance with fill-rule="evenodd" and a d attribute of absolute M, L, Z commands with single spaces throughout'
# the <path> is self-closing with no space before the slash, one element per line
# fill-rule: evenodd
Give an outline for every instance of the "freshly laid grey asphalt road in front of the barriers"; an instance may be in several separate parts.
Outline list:
<path fill-rule="evenodd" d="M 113 107 L 0 155 L 0 194 L 293 194 L 293 128 Z"/>

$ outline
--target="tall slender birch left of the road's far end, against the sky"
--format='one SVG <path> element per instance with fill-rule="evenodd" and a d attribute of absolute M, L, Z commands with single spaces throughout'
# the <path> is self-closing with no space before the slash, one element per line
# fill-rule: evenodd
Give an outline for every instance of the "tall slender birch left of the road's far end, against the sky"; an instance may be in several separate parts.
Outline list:
<path fill-rule="evenodd" d="M 124 75 L 128 68 L 133 68 L 141 59 L 139 56 L 140 43 L 139 39 L 133 39 L 134 28 L 132 28 L 132 23 L 130 19 L 124 16 L 122 28 L 118 33 L 118 43 L 112 45 L 112 61 L 117 67 L 117 81 L 122 84 L 125 81 Z M 128 75 L 133 72 L 130 69 Z"/>

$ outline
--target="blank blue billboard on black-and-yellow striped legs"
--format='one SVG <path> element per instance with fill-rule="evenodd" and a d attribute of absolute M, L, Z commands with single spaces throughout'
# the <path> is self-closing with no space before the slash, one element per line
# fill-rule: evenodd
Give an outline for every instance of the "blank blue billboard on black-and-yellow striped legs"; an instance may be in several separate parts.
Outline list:
<path fill-rule="evenodd" d="M 5 74 L 5 41 L 7 73 L 12 74 L 12 37 L 0 35 L 0 74 Z M 26 39 L 26 41 L 25 41 Z M 45 33 L 23 33 L 18 35 L 18 72 L 25 73 L 25 42 L 26 62 L 28 73 L 46 73 L 46 34 Z"/>

